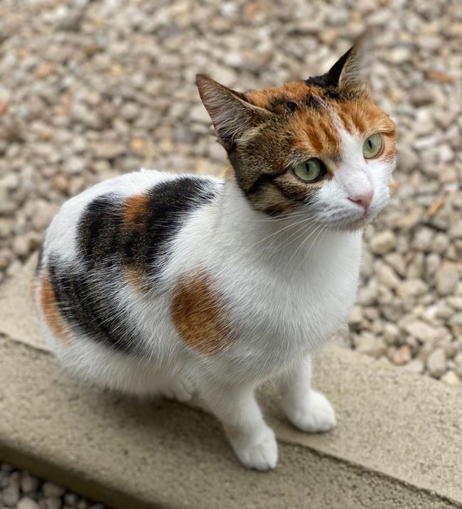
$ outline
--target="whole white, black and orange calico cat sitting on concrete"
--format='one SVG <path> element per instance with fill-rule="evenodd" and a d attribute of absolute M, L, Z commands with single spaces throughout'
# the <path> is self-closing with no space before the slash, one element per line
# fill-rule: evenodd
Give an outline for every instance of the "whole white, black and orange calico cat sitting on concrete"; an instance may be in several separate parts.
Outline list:
<path fill-rule="evenodd" d="M 254 390 L 326 432 L 311 359 L 355 301 L 362 230 L 389 199 L 395 128 L 360 78 L 361 43 L 328 73 L 241 93 L 203 75 L 225 178 L 141 170 L 68 200 L 36 271 L 43 330 L 71 373 L 186 402 L 198 393 L 240 461 L 274 468 Z"/>

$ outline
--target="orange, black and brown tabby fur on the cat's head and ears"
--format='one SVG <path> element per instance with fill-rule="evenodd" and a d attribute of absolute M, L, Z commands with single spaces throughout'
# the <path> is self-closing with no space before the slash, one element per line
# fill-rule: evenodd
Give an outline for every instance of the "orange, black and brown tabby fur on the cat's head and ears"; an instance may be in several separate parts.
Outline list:
<path fill-rule="evenodd" d="M 325 187 L 323 180 L 333 181 L 346 162 L 351 145 L 362 146 L 376 132 L 385 142 L 383 159 L 392 164 L 394 123 L 360 80 L 357 58 L 358 50 L 353 48 L 321 77 L 247 93 L 198 75 L 200 95 L 218 139 L 227 150 L 237 183 L 256 210 L 274 215 L 313 203 Z M 301 182 L 291 170 L 310 158 L 323 163 L 325 178 Z M 358 161 L 358 170 L 361 166 Z"/>

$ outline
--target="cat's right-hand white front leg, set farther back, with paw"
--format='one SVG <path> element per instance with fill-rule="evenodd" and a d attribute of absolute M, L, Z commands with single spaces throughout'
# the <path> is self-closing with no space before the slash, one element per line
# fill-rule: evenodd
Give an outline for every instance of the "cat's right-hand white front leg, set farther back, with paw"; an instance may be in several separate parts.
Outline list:
<path fill-rule="evenodd" d="M 328 432 L 335 412 L 326 396 L 311 389 L 311 359 L 286 373 L 281 382 L 282 407 L 292 424 L 303 432 Z"/>

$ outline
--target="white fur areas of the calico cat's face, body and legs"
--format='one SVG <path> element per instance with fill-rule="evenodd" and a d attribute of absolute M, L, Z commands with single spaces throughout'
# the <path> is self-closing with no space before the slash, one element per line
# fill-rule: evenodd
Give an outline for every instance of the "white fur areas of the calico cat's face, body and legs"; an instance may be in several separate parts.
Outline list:
<path fill-rule="evenodd" d="M 261 470 L 277 461 L 274 433 L 254 399 L 254 388 L 266 380 L 281 384 L 284 411 L 296 427 L 321 432 L 335 426 L 331 404 L 311 389 L 311 358 L 345 322 L 355 301 L 362 232 L 350 226 L 369 220 L 385 205 L 391 173 L 391 167 L 358 156 L 358 140 L 343 133 L 343 142 L 345 161 L 335 178 L 323 183 L 315 203 L 286 218 L 256 212 L 235 182 L 210 178 L 218 198 L 186 218 L 163 270 L 163 291 L 153 299 L 114 283 L 150 355 L 129 357 L 87 337 L 63 345 L 44 325 L 63 365 L 97 385 L 136 394 L 184 401 L 197 391 L 225 425 L 242 463 Z M 364 210 L 348 200 L 355 186 L 349 168 L 358 170 L 361 186 L 374 187 L 366 219 Z M 95 196 L 140 193 L 171 178 L 176 176 L 143 170 L 72 198 L 48 228 L 44 262 L 50 252 L 59 252 L 79 263 L 76 224 Z M 236 336 L 215 355 L 187 347 L 170 316 L 176 279 L 200 268 L 226 297 Z"/>

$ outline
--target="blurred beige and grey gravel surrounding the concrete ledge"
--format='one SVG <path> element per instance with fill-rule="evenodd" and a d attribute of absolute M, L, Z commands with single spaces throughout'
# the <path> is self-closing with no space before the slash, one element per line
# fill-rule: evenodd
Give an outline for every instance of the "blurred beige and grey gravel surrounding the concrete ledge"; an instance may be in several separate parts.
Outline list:
<path fill-rule="evenodd" d="M 222 173 L 196 73 L 237 90 L 305 79 L 371 25 L 397 190 L 365 232 L 358 304 L 335 341 L 461 385 L 460 0 L 0 0 L 0 284 L 93 183 L 141 166 Z M 1 468 L 15 507 L 25 474 Z M 37 507 L 91 505 L 33 483 Z"/>

